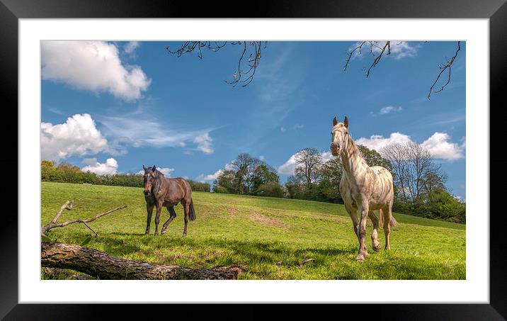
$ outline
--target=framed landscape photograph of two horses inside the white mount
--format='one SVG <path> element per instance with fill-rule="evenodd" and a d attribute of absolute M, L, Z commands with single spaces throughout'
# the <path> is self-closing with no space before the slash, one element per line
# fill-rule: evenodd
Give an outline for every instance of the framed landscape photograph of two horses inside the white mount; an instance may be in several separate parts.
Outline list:
<path fill-rule="evenodd" d="M 466 60 L 40 40 L 40 280 L 467 280 Z"/>

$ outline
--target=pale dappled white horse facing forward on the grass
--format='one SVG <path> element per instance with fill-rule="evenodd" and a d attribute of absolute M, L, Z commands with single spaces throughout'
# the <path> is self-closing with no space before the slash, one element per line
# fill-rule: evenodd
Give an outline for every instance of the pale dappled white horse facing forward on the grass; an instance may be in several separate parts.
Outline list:
<path fill-rule="evenodd" d="M 354 232 L 359 240 L 359 254 L 356 261 L 364 261 L 368 256 L 365 246 L 366 218 L 373 224 L 372 247 L 380 249 L 377 228 L 379 220 L 373 210 L 380 210 L 380 224 L 384 227 L 385 249 L 390 249 L 389 233 L 397 221 L 392 217 L 394 188 L 392 174 L 384 167 L 369 167 L 351 135 L 348 134 L 348 118 L 343 123 L 333 119 L 331 131 L 331 154 L 341 156 L 344 175 L 340 181 L 340 193 L 348 215 L 351 216 Z M 359 210 L 360 220 L 356 210 Z"/>

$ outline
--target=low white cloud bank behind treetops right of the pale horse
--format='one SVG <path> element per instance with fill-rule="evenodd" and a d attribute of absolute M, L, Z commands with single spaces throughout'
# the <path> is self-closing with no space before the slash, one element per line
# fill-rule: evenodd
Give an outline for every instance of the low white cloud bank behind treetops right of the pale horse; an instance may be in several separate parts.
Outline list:
<path fill-rule="evenodd" d="M 408 135 L 401 133 L 392 133 L 389 137 L 383 137 L 382 135 L 372 135 L 370 138 L 361 137 L 355 142 L 377 151 L 396 143 L 415 143 Z M 421 147 L 428 150 L 436 159 L 445 159 L 452 162 L 464 157 L 463 151 L 465 150 L 465 145 L 458 145 L 455 142 L 450 142 L 450 136 L 447 133 L 434 133 L 421 143 Z"/>

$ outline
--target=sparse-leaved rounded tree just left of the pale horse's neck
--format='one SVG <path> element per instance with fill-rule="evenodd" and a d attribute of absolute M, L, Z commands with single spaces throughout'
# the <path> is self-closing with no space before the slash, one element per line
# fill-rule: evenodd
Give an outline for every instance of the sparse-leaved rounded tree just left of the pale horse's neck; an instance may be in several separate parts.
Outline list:
<path fill-rule="evenodd" d="M 304 148 L 297 152 L 295 158 L 295 176 L 304 181 L 307 188 L 312 188 L 319 179 L 319 169 L 322 165 L 321 154 L 315 148 Z"/>

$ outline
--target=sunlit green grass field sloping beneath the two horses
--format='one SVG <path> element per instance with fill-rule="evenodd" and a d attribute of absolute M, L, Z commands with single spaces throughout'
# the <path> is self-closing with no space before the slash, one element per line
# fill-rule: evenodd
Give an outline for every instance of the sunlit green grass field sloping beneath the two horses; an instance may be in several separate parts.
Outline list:
<path fill-rule="evenodd" d="M 193 268 L 244 266 L 240 279 L 464 279 L 465 225 L 394 213 L 389 251 L 371 248 L 358 263 L 357 238 L 343 205 L 283 198 L 194 192 L 197 219 L 182 237 L 183 208 L 165 235 L 144 235 L 146 208 L 142 188 L 42 182 L 42 225 L 59 207 L 74 209 L 59 221 L 91 218 L 120 205 L 127 208 L 90 223 L 98 232 L 86 246 L 115 257 Z M 161 223 L 169 218 L 164 208 Z M 152 220 L 154 220 L 154 215 Z M 59 242 L 90 234 L 74 224 L 49 232 Z M 382 229 L 380 243 L 384 244 Z M 304 259 L 315 259 L 300 265 Z M 43 276 L 44 277 L 44 276 Z"/>

